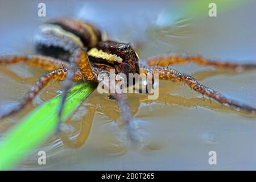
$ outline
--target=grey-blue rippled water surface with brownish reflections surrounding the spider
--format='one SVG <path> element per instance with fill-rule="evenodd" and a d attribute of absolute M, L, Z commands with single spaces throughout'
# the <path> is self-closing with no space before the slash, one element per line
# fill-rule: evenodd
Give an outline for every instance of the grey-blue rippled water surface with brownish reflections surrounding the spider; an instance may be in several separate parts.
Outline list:
<path fill-rule="evenodd" d="M 133 44 L 142 60 L 192 53 L 256 64 L 256 2 L 233 6 L 238 1 L 225 1 L 229 8 L 220 13 L 217 6 L 217 17 L 210 18 L 206 6 L 205 14 L 192 18 L 182 16 L 191 1 L 1 0 L 0 53 L 35 53 L 36 27 L 52 18 L 68 17 L 95 24 L 109 39 Z M 46 4 L 46 17 L 38 16 L 40 2 Z M 256 106 L 256 71 L 216 72 L 194 64 L 173 68 L 194 75 L 225 96 Z M 23 64 L 1 66 L 0 109 L 15 105 L 45 72 Z M 1 122 L 0 140 L 31 109 L 55 96 L 60 85 L 49 84 L 27 109 Z M 86 125 L 89 137 L 80 141 L 79 148 L 63 144 L 54 135 L 15 169 L 256 169 L 256 118 L 204 101 L 182 84 L 160 81 L 159 94 L 159 100 L 151 102 L 145 95 L 129 94 L 143 139 L 140 147 L 129 148 L 122 142 L 115 102 L 95 91 L 68 121 L 73 127 L 68 134 L 72 140 L 82 132 L 81 125 Z M 44 166 L 37 163 L 39 150 L 47 154 Z M 217 152 L 216 165 L 208 163 L 212 150 Z"/>

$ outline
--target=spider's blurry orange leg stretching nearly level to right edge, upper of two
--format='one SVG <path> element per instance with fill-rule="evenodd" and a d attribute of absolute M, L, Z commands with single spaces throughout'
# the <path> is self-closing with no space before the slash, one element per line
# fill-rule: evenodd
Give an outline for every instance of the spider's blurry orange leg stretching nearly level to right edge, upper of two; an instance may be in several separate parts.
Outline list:
<path fill-rule="evenodd" d="M 255 69 L 256 64 L 236 64 L 224 61 L 210 60 L 203 56 L 192 56 L 192 55 L 169 55 L 169 56 L 159 56 L 151 57 L 147 59 L 147 64 L 150 66 L 161 66 L 166 67 L 172 64 L 185 64 L 185 63 L 195 63 L 203 66 L 212 66 L 216 68 L 229 68 L 235 69 L 236 71 L 241 71 L 243 69 Z"/>

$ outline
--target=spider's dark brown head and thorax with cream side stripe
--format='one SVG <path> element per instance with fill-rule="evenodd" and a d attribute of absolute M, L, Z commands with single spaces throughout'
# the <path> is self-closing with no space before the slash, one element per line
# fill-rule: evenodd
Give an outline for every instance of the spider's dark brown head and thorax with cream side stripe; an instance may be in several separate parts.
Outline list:
<path fill-rule="evenodd" d="M 91 49 L 89 55 L 93 51 L 98 51 L 98 55 L 105 55 L 104 59 L 113 65 L 115 73 L 139 73 L 138 55 L 130 44 L 104 41 L 98 43 L 96 48 Z"/>

